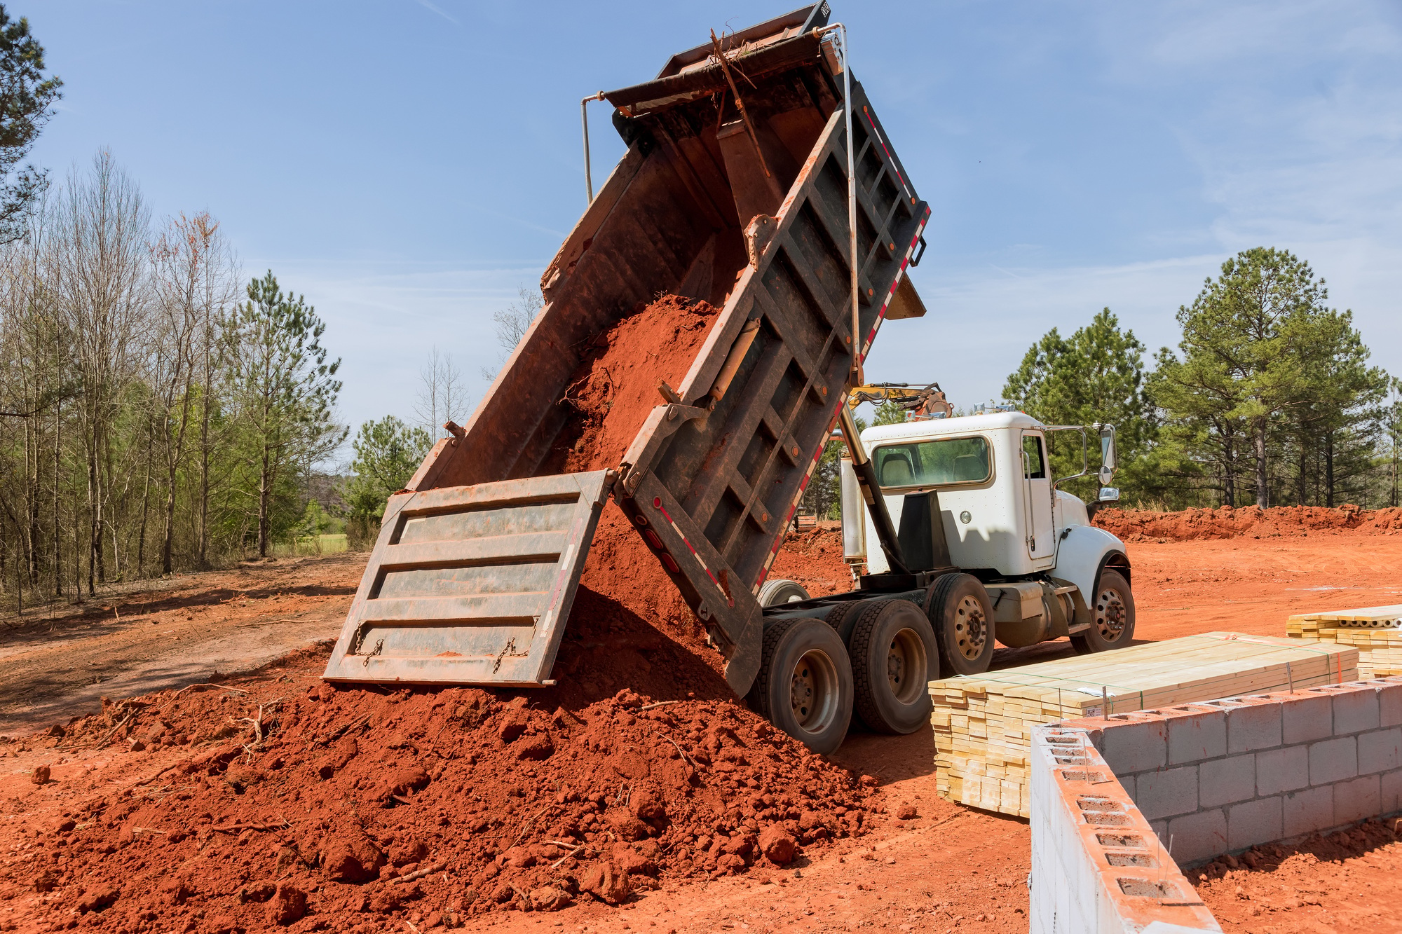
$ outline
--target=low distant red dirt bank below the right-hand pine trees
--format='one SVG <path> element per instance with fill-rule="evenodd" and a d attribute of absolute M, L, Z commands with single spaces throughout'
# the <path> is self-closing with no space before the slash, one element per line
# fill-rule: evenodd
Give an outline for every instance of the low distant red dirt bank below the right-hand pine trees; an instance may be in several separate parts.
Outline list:
<path fill-rule="evenodd" d="M 1124 541 L 1190 541 L 1196 539 L 1273 539 L 1338 534 L 1402 533 L 1402 509 L 1359 509 L 1346 503 L 1323 506 L 1244 506 L 1232 509 L 1185 509 L 1148 512 L 1143 509 L 1101 509 L 1095 524 Z"/>

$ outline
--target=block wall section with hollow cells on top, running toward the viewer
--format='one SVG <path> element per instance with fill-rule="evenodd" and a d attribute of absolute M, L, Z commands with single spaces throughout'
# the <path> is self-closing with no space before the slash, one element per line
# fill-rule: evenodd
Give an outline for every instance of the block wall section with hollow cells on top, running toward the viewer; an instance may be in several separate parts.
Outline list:
<path fill-rule="evenodd" d="M 1220 931 L 1089 733 L 1033 729 L 1032 934 Z"/>

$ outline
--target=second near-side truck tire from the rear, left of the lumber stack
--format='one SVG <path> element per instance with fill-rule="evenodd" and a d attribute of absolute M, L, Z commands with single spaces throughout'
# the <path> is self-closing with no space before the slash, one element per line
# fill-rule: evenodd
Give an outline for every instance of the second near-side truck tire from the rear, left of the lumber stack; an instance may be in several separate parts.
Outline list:
<path fill-rule="evenodd" d="M 910 600 L 873 600 L 847 642 L 852 708 L 878 733 L 913 733 L 930 724 L 930 682 L 939 649 L 925 611 Z"/>

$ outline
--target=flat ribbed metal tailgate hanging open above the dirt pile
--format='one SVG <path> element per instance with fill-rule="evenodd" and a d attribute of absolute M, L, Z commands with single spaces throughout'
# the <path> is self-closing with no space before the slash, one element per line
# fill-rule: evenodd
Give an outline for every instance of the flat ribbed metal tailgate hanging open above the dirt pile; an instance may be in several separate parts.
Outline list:
<path fill-rule="evenodd" d="M 611 471 L 390 498 L 324 677 L 540 686 Z"/>

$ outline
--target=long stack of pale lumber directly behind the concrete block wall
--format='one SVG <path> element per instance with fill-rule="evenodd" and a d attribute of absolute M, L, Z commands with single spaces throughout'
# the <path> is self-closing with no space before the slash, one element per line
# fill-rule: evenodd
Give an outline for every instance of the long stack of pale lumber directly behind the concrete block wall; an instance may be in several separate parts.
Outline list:
<path fill-rule="evenodd" d="M 935 787 L 948 801 L 1029 815 L 1032 728 L 1190 701 L 1356 680 L 1350 645 L 1206 632 L 930 682 Z"/>

